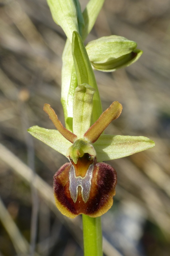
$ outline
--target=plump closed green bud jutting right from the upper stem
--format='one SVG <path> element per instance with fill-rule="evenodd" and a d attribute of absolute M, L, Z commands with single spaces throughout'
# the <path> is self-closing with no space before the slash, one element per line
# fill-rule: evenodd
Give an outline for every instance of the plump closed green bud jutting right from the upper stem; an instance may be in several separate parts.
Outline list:
<path fill-rule="evenodd" d="M 95 70 L 112 72 L 139 59 L 143 52 L 136 47 L 136 42 L 122 36 L 104 36 L 89 42 L 86 50 Z"/>

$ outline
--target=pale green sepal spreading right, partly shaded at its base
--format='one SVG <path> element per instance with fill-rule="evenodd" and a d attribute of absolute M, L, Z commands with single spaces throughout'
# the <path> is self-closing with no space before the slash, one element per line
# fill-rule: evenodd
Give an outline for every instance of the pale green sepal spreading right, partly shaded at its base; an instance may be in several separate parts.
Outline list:
<path fill-rule="evenodd" d="M 154 147 L 154 142 L 144 136 L 101 135 L 93 144 L 97 160 L 107 161 Z"/>

